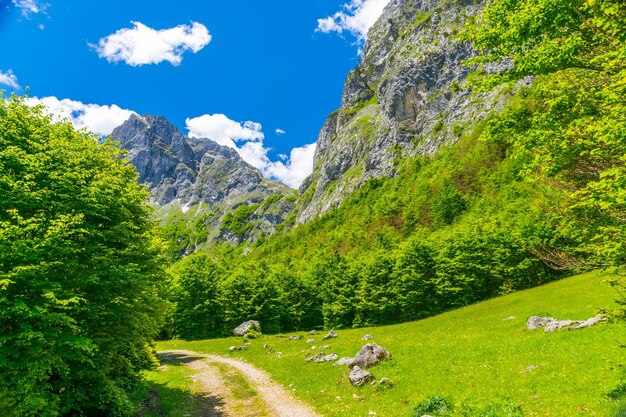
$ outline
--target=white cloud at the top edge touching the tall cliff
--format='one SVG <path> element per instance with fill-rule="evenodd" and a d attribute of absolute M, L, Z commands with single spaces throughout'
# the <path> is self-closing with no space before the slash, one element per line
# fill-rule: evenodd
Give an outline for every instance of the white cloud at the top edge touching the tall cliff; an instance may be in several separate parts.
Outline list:
<path fill-rule="evenodd" d="M 350 32 L 359 41 L 367 38 L 367 32 L 376 23 L 390 0 L 350 0 L 343 10 L 332 16 L 317 20 L 317 31 L 323 33 Z"/>

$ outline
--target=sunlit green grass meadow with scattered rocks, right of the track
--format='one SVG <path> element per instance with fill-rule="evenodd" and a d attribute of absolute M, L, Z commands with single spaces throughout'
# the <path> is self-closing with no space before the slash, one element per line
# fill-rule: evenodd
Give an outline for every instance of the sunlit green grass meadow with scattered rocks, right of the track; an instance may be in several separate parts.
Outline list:
<path fill-rule="evenodd" d="M 304 340 L 262 336 L 234 356 L 268 371 L 325 416 L 366 416 L 370 411 L 410 416 L 418 403 L 436 395 L 483 407 L 511 401 L 527 416 L 625 416 L 624 396 L 605 397 L 619 385 L 626 365 L 620 347 L 626 343 L 625 323 L 551 334 L 525 330 L 531 315 L 586 319 L 599 308 L 613 307 L 616 294 L 601 280 L 597 274 L 579 275 L 418 322 L 343 330 L 339 338 L 325 342 L 320 341 L 322 332 L 314 337 L 316 346 L 328 344 L 329 352 L 343 357 L 359 350 L 363 335 L 373 335 L 393 360 L 370 371 L 376 378 L 391 378 L 391 389 L 354 388 L 346 368 L 305 363 L 311 345 Z M 504 320 L 511 316 L 516 319 Z M 228 347 L 241 342 L 168 341 L 158 349 L 231 356 Z M 264 343 L 282 356 L 268 355 Z"/>

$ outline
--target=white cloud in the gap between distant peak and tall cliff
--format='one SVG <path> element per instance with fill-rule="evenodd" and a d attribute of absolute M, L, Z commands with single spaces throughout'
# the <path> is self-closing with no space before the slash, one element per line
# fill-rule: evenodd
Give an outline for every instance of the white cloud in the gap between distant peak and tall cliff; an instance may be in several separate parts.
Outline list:
<path fill-rule="evenodd" d="M 185 121 L 189 136 L 214 140 L 236 149 L 244 161 L 258 168 L 266 177 L 297 188 L 313 172 L 315 144 L 294 148 L 291 154 L 279 155 L 282 161 L 272 161 L 263 140 L 263 126 L 255 122 L 239 123 L 223 114 L 205 114 Z"/>

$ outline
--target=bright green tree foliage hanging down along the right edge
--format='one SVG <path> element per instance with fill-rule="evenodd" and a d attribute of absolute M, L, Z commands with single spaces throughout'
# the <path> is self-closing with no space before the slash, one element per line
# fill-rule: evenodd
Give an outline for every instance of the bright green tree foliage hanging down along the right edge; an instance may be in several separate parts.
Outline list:
<path fill-rule="evenodd" d="M 529 155 L 528 174 L 566 190 L 553 208 L 570 242 L 544 248 L 560 268 L 626 264 L 626 3 L 620 0 L 493 0 L 464 35 L 470 64 L 508 68 L 483 88 L 534 77 L 493 118 L 488 137 Z"/>

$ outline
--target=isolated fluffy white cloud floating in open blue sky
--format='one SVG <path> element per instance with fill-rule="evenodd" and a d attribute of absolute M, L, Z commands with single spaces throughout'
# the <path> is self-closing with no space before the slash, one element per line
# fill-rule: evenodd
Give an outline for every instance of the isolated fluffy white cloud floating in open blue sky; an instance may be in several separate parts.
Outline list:
<path fill-rule="evenodd" d="M 171 29 L 156 30 L 141 22 L 131 22 L 133 28 L 120 29 L 90 44 L 100 58 L 109 62 L 125 62 L 133 67 L 168 61 L 180 65 L 187 51 L 196 53 L 211 42 L 206 26 L 191 22 Z"/>

